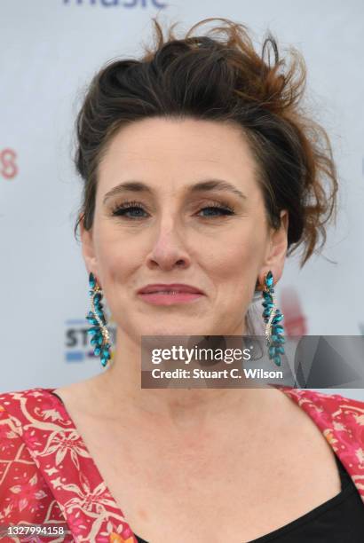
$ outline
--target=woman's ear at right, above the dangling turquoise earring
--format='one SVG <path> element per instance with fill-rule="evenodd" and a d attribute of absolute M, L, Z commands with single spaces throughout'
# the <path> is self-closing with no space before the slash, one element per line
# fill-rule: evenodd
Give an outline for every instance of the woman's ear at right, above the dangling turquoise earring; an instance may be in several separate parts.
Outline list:
<path fill-rule="evenodd" d="M 265 273 L 269 270 L 273 273 L 274 285 L 281 279 L 288 248 L 289 212 L 281 210 L 281 226 L 278 230 L 272 230 L 265 256 L 264 270 L 260 283 L 263 283 Z"/>

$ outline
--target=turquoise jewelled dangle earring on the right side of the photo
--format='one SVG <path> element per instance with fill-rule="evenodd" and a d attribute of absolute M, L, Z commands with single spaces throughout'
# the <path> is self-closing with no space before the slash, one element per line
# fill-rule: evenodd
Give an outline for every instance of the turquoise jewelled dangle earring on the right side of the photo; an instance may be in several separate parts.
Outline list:
<path fill-rule="evenodd" d="M 284 354 L 284 348 L 281 344 L 285 342 L 282 335 L 284 333 L 284 328 L 281 324 L 281 320 L 284 315 L 282 315 L 281 311 L 275 307 L 272 271 L 265 273 L 263 298 L 264 302 L 262 305 L 265 308 L 265 311 L 263 311 L 262 315 L 263 320 L 265 321 L 265 343 L 268 347 L 269 358 L 273 358 L 273 362 L 276 366 L 281 366 L 281 354 Z"/>

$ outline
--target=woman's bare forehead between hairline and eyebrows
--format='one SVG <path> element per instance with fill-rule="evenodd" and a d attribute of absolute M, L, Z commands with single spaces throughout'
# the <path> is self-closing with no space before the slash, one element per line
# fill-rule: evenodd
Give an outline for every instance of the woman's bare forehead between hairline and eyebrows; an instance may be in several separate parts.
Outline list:
<path fill-rule="evenodd" d="M 238 125 L 227 122 L 148 118 L 116 132 L 99 164 L 99 192 L 138 178 L 176 188 L 199 177 L 222 177 L 255 190 L 256 163 Z"/>

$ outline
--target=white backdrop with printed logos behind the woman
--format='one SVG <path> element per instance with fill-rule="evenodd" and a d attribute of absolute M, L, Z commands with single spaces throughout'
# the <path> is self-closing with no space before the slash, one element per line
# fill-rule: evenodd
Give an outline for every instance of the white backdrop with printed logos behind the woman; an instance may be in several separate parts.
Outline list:
<path fill-rule="evenodd" d="M 157 12 L 162 22 L 181 21 L 180 32 L 207 17 L 238 20 L 257 48 L 270 29 L 282 55 L 290 44 L 303 52 L 306 103 L 336 157 L 339 216 L 321 256 L 303 270 L 298 256 L 287 260 L 278 305 L 286 332 L 364 334 L 361 0 L 2 0 L 0 391 L 59 387 L 102 371 L 85 340 L 88 278 L 73 237 L 82 187 L 72 163 L 75 115 L 105 61 L 137 57 L 149 43 Z M 364 399 L 364 390 L 335 392 Z"/>

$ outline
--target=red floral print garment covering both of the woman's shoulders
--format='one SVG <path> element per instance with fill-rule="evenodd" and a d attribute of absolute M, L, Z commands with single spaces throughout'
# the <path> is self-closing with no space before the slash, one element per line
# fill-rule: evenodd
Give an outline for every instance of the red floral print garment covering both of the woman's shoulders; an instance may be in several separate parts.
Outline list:
<path fill-rule="evenodd" d="M 364 501 L 364 402 L 278 388 L 312 418 Z M 1 540 L 137 543 L 53 390 L 0 394 L 0 529 L 36 524 L 53 533 L 5 534 Z"/>

